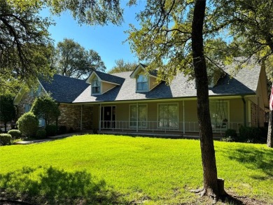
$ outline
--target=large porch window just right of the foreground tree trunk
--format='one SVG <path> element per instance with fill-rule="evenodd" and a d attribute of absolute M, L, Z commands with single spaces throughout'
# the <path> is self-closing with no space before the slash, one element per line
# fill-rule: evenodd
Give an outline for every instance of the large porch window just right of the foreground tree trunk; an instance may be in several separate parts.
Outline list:
<path fill-rule="evenodd" d="M 228 122 L 228 101 L 218 100 L 209 102 L 209 112 L 213 127 L 227 127 Z"/>

